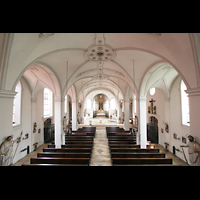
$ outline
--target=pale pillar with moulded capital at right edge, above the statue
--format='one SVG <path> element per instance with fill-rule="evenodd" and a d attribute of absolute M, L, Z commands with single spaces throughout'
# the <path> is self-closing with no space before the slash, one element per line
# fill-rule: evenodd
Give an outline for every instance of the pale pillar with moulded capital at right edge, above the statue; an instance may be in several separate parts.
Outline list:
<path fill-rule="evenodd" d="M 190 105 L 190 135 L 200 143 L 200 88 L 186 90 Z"/>

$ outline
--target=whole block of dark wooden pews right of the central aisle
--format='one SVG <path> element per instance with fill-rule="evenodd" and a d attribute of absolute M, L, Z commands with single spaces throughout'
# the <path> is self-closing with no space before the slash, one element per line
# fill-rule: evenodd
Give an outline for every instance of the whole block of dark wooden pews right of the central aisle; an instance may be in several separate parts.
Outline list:
<path fill-rule="evenodd" d="M 160 153 L 155 145 L 141 149 L 136 136 L 119 127 L 106 127 L 113 166 L 177 166 Z"/>

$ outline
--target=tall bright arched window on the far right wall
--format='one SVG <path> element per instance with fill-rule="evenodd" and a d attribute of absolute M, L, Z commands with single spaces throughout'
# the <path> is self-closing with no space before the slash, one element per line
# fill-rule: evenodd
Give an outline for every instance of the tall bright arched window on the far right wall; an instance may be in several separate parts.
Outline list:
<path fill-rule="evenodd" d="M 187 87 L 185 83 L 181 81 L 182 124 L 186 126 L 190 126 L 189 98 L 185 90 L 187 90 Z"/>

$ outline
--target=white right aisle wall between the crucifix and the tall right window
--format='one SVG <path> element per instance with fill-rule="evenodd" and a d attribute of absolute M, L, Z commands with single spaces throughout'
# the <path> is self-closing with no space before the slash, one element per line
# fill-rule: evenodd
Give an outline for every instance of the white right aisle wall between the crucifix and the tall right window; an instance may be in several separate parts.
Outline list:
<path fill-rule="evenodd" d="M 164 142 L 169 143 L 168 150 L 173 152 L 173 146 L 177 149 L 180 145 L 186 145 L 188 143 L 187 134 L 190 134 L 190 127 L 182 125 L 181 120 L 181 92 L 180 92 L 181 78 L 178 77 L 171 89 L 170 98 L 166 98 L 162 90 L 156 88 L 155 95 L 151 96 L 149 92 L 147 93 L 147 110 L 150 105 L 149 101 L 151 98 L 156 100 L 154 106 L 156 106 L 156 115 L 147 113 L 147 123 L 149 123 L 150 116 L 154 116 L 158 119 L 158 134 L 159 134 L 159 144 L 165 147 Z M 169 104 L 169 105 L 168 105 Z M 169 133 L 165 131 L 164 123 L 168 124 Z M 163 128 L 163 133 L 161 133 L 161 128 Z M 173 138 L 173 133 L 177 134 L 178 139 Z M 186 144 L 182 143 L 182 137 L 186 138 Z M 187 148 L 184 148 L 185 154 L 188 159 Z M 185 161 L 183 153 L 176 151 L 176 156 Z"/>

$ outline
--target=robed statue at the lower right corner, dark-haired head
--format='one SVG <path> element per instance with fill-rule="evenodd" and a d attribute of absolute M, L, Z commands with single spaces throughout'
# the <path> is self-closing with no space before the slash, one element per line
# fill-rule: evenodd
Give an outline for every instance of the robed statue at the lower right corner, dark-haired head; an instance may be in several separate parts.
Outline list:
<path fill-rule="evenodd" d="M 200 144 L 195 141 L 194 137 L 189 135 L 188 136 L 189 142 L 187 145 L 181 145 L 180 147 L 183 150 L 184 158 L 188 164 L 187 158 L 185 156 L 185 152 L 183 147 L 188 147 L 188 154 L 191 166 L 200 166 Z"/>

